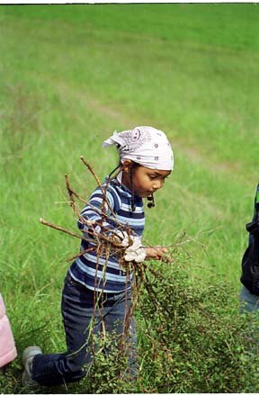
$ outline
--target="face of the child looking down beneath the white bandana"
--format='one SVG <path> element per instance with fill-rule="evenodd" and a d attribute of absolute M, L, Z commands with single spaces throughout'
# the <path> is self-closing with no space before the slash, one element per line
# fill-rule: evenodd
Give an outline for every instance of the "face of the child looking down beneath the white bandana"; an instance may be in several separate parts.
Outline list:
<path fill-rule="evenodd" d="M 134 193 L 147 198 L 151 193 L 156 193 L 158 189 L 163 188 L 165 178 L 170 174 L 171 171 L 150 169 L 144 166 L 134 168 L 132 172 Z"/>

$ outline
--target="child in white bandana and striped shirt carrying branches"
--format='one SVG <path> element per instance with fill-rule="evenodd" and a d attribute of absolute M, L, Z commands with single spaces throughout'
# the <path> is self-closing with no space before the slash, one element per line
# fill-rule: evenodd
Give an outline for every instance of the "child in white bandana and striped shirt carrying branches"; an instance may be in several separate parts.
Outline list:
<path fill-rule="evenodd" d="M 106 331 L 115 330 L 118 336 L 123 333 L 132 274 L 123 270 L 116 255 L 105 259 L 104 252 L 100 256 L 94 244 L 96 234 L 100 238 L 108 235 L 112 242 L 124 247 L 124 260 L 128 262 L 141 264 L 148 258 L 161 259 L 166 252 L 163 247 L 147 248 L 141 243 L 145 223 L 142 198 L 150 201 L 149 207 L 155 206 L 153 193 L 164 186 L 174 166 L 165 133 L 148 126 L 114 132 L 103 142 L 103 147 L 112 145 L 116 145 L 120 156 L 120 165 L 112 172 L 118 170 L 117 175 L 106 177 L 81 212 L 78 227 L 85 235 L 81 243 L 81 252 L 85 253 L 76 258 L 65 279 L 61 308 L 67 352 L 43 355 L 40 347 L 27 347 L 22 355 L 22 382 L 26 386 L 76 382 L 85 376 L 84 365 L 93 358 L 86 351 L 93 316 L 94 333 L 100 334 L 102 325 Z M 98 309 L 94 309 L 96 304 Z M 129 328 L 129 341 L 134 346 L 133 320 Z"/>

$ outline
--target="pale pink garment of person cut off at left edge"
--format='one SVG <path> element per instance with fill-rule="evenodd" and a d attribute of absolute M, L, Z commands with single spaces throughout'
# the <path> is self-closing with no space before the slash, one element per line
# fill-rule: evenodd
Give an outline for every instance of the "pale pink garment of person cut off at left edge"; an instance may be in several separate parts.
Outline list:
<path fill-rule="evenodd" d="M 8 317 L 5 314 L 5 307 L 0 293 L 0 368 L 4 364 L 9 364 L 17 356 L 14 344 L 13 333 Z"/>

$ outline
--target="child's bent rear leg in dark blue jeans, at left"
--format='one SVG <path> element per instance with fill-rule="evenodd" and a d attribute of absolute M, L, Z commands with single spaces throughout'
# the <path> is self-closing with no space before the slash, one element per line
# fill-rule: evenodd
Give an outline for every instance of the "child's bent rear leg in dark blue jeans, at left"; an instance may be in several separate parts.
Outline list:
<path fill-rule="evenodd" d="M 89 307 L 89 291 L 78 287 L 67 276 L 62 296 L 62 315 L 67 337 L 67 352 L 35 355 L 31 378 L 40 385 L 50 386 L 76 382 L 85 376 L 84 365 L 91 361 L 86 351 L 94 308 Z M 91 303 L 90 303 L 91 305 Z M 100 330 L 95 323 L 95 331 Z"/>

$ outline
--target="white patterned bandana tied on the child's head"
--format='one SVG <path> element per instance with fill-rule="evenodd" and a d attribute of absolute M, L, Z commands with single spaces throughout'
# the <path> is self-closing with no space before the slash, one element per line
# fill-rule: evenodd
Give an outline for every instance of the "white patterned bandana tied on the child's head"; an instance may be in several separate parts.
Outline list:
<path fill-rule="evenodd" d="M 164 131 L 151 126 L 137 126 L 132 130 L 114 131 L 103 141 L 103 147 L 117 145 L 121 162 L 130 159 L 141 166 L 171 171 L 174 154 Z"/>

